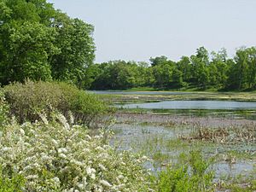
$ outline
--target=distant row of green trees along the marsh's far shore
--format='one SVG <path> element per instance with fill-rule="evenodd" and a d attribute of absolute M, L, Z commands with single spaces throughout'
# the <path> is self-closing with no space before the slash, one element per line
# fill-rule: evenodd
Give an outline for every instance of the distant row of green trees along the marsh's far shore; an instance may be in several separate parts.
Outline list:
<path fill-rule="evenodd" d="M 152 87 L 159 90 L 255 90 L 256 47 L 236 49 L 228 58 L 226 49 L 209 53 L 204 47 L 179 61 L 166 56 L 149 62 L 108 61 L 87 69 L 92 90 L 125 90 Z"/>

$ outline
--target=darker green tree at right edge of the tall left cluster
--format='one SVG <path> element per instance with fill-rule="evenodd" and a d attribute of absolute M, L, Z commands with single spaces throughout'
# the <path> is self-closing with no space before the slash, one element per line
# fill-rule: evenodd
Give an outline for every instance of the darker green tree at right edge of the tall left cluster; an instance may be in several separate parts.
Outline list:
<path fill-rule="evenodd" d="M 91 38 L 93 26 L 82 20 L 71 20 L 63 14 L 58 15 L 54 25 L 58 33 L 55 44 L 60 54 L 51 58 L 52 76 L 84 87 L 87 83 L 86 68 L 95 58 L 95 45 Z"/>

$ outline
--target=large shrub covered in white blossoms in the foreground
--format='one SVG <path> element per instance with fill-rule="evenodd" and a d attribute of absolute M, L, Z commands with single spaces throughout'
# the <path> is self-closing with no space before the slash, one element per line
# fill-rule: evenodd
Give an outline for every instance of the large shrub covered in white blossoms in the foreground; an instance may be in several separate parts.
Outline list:
<path fill-rule="evenodd" d="M 144 157 L 116 152 L 103 133 L 90 136 L 61 114 L 42 121 L 0 132 L 2 174 L 24 177 L 23 191 L 148 191 Z"/>

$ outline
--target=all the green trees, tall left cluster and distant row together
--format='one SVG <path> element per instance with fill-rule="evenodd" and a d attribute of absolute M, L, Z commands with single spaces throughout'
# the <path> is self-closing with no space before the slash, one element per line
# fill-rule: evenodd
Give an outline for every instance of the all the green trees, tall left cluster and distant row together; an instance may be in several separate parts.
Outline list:
<path fill-rule="evenodd" d="M 0 85 L 59 80 L 94 90 L 152 87 L 159 90 L 255 90 L 256 48 L 226 50 L 171 61 L 108 61 L 94 64 L 94 27 L 70 18 L 46 0 L 0 0 Z"/>

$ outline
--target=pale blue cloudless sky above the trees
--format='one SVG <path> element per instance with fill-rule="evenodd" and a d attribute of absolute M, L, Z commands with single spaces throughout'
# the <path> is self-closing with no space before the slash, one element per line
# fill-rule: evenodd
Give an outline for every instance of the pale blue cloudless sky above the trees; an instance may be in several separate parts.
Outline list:
<path fill-rule="evenodd" d="M 256 45 L 256 0 L 48 0 L 95 26 L 96 62 Z"/>

